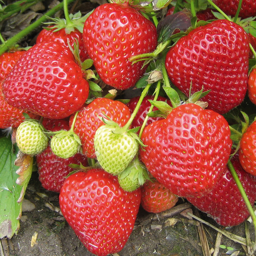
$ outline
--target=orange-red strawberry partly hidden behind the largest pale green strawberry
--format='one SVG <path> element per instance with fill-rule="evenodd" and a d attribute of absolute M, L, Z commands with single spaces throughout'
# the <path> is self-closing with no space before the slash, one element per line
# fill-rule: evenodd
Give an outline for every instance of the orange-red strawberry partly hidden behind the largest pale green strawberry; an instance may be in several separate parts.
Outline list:
<path fill-rule="evenodd" d="M 107 98 L 96 98 L 88 106 L 82 109 L 74 125 L 74 133 L 81 140 L 82 153 L 89 158 L 96 158 L 94 150 L 94 135 L 96 130 L 104 125 L 100 117 L 107 115 L 119 126 L 124 126 L 130 119 L 130 110 L 120 102 Z M 73 122 L 73 116 L 70 118 L 70 127 Z"/>

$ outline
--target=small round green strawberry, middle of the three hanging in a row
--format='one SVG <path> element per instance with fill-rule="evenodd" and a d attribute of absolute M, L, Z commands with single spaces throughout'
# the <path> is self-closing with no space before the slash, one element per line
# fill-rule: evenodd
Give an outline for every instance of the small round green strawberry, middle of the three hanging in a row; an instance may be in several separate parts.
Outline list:
<path fill-rule="evenodd" d="M 59 131 L 51 138 L 52 152 L 61 158 L 69 158 L 79 152 L 80 139 L 72 131 Z"/>

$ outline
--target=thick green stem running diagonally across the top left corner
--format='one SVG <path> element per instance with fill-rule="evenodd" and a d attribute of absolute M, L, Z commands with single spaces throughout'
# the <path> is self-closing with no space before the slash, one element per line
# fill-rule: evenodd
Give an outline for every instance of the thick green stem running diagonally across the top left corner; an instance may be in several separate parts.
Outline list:
<path fill-rule="evenodd" d="M 68 3 L 73 2 L 74 0 L 67 0 Z M 45 20 L 48 19 L 48 17 L 54 15 L 58 10 L 63 8 L 63 2 L 49 10 L 47 13 L 45 13 L 42 17 L 40 17 L 38 20 L 36 20 L 34 23 L 20 31 L 15 36 L 9 38 L 3 45 L 0 47 L 0 55 L 6 52 L 11 46 L 15 45 L 18 41 L 20 41 L 23 37 L 25 37 L 27 34 L 29 34 L 31 31 L 33 31 L 35 28 L 41 25 L 42 22 L 45 22 Z"/>

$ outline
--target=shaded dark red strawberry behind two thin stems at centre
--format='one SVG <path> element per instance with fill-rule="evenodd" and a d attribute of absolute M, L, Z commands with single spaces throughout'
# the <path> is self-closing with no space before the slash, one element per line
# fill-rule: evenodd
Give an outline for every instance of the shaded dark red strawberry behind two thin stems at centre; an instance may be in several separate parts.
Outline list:
<path fill-rule="evenodd" d="M 126 104 L 126 106 L 128 106 L 128 108 L 130 109 L 131 114 L 133 113 L 139 99 L 140 99 L 140 96 L 134 97 Z M 147 95 L 146 97 L 144 97 L 144 99 L 143 99 L 143 101 L 140 105 L 140 108 L 139 108 L 137 114 L 135 115 L 135 118 L 132 121 L 131 129 L 133 129 L 135 127 L 138 127 L 138 126 L 141 126 L 143 124 L 144 119 L 147 116 L 148 110 L 151 107 L 151 103 L 148 100 L 154 100 L 154 96 Z M 158 101 L 166 101 L 167 104 L 169 104 L 170 106 L 172 105 L 172 103 L 169 100 L 167 100 L 166 98 L 164 98 L 162 96 L 158 96 L 157 100 Z M 154 107 L 152 111 L 156 111 L 156 110 L 158 110 L 158 108 Z M 162 119 L 164 119 L 164 118 L 162 118 L 162 117 L 148 117 L 146 125 L 149 125 L 154 121 L 162 120 Z"/>

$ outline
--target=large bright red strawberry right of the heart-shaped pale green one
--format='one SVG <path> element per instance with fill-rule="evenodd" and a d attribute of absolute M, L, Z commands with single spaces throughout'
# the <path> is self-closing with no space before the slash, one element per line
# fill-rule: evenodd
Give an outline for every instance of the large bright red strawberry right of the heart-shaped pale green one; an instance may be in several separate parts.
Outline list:
<path fill-rule="evenodd" d="M 230 155 L 232 141 L 225 118 L 188 103 L 164 120 L 146 126 L 140 150 L 148 171 L 174 194 L 201 196 L 212 190 Z"/>

